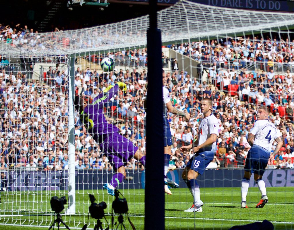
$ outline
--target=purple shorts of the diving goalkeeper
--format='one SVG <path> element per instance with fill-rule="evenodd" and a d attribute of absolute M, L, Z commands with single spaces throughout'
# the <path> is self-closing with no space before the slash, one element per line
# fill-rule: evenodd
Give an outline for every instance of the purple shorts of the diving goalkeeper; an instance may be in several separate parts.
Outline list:
<path fill-rule="evenodd" d="M 125 166 L 138 150 L 138 147 L 133 142 L 118 133 L 107 134 L 103 138 L 103 143 L 99 146 L 114 170 Z"/>

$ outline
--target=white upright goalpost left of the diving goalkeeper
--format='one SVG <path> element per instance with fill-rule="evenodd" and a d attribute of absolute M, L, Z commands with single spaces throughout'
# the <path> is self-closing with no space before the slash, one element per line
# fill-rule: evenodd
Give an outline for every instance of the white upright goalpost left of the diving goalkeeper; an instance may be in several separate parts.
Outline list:
<path fill-rule="evenodd" d="M 76 214 L 76 168 L 74 145 L 74 64 L 75 57 L 69 58 L 69 207 L 66 214 Z"/>

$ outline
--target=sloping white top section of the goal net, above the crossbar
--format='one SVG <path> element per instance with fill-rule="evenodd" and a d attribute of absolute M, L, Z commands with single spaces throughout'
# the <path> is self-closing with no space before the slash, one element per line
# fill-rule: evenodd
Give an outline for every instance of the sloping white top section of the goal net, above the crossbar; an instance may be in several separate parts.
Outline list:
<path fill-rule="evenodd" d="M 259 12 L 220 8 L 181 0 L 158 11 L 162 43 L 218 36 L 242 36 L 254 31 L 288 29 L 294 26 L 293 13 Z M 0 55 L 10 57 L 56 56 L 93 51 L 130 49 L 147 44 L 149 16 L 113 24 L 61 32 L 24 36 L 12 43 L 0 42 Z"/>

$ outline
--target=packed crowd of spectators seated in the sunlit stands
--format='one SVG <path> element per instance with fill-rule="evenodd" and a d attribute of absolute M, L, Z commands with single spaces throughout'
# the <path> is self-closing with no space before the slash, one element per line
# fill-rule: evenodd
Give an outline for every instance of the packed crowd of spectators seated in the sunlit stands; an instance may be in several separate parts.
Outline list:
<path fill-rule="evenodd" d="M 11 42 L 23 33 L 38 36 L 37 31 L 29 31 L 27 27 L 22 31 L 15 31 L 9 26 L 4 28 L 0 25 L 0 30 L 1 40 L 6 42 Z M 254 125 L 257 108 L 262 104 L 269 107 L 269 120 L 278 127 L 284 139 L 284 146 L 275 156 L 274 167 L 294 168 L 294 71 L 291 69 L 294 66 L 293 45 L 294 40 L 271 41 L 267 38 L 263 41 L 258 40 L 258 37 L 172 45 L 172 49 L 184 55 L 191 54 L 197 61 L 207 61 L 210 64 L 207 66 L 208 81 L 179 70 L 176 60 L 171 60 L 171 69 L 166 71 L 168 80 L 165 87 L 170 91 L 173 106 L 191 114 L 188 122 L 172 114 L 168 115 L 174 138 L 170 164 L 183 168 L 193 155 L 191 151 L 181 153 L 179 147 L 197 139 L 199 123 L 203 119 L 200 101 L 210 97 L 213 100 L 213 112 L 221 128 L 217 141 L 218 151 L 208 168 L 244 165 L 250 149 L 247 136 Z M 109 74 L 89 68 L 77 68 L 75 93 L 91 103 L 110 84 L 125 82 L 128 92 L 116 95 L 105 104 L 105 114 L 109 122 L 118 126 L 123 136 L 146 153 L 146 112 L 143 102 L 147 83 L 147 70 L 144 69 L 147 49 L 107 55 L 114 58 L 116 63 L 119 63 L 122 56 L 124 65 L 127 63 L 127 66 L 135 68 L 115 70 Z M 141 60 L 141 56 L 145 58 Z M 99 62 L 102 57 L 92 58 L 94 62 L 95 59 Z M 166 64 L 167 58 L 163 55 L 162 59 Z M 248 62 L 266 65 L 249 73 L 246 71 Z M 286 68 L 273 68 L 274 63 L 281 64 L 282 67 L 282 64 L 286 64 Z M 0 64 L 0 170 L 67 170 L 67 70 L 61 70 L 57 65 L 56 68 L 49 68 L 40 80 L 36 80 L 28 79 L 26 72 L 13 71 L 5 57 L 1 57 Z M 140 71 L 138 66 L 141 66 Z M 116 68 L 119 69 L 119 66 Z M 107 157 L 87 133 L 77 113 L 74 122 L 76 169 L 111 169 Z M 143 168 L 134 159 L 126 167 Z"/>

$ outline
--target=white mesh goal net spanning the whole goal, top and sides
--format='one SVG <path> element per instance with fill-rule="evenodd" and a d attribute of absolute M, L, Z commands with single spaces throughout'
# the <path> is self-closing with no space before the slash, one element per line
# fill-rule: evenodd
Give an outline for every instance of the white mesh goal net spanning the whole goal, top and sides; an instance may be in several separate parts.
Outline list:
<path fill-rule="evenodd" d="M 293 107 L 294 92 L 293 24 L 293 14 L 217 8 L 189 1 L 158 12 L 165 87 L 172 105 L 191 114 L 189 122 L 168 114 L 173 141 L 169 164 L 177 169 L 167 176 L 180 188 L 171 189 L 173 195 L 166 196 L 166 229 L 228 229 L 263 219 L 278 228 L 291 228 L 293 214 L 288 212 L 293 211 L 294 175 L 288 168 L 294 160 L 294 132 L 293 109 L 291 115 L 288 108 Z M 148 26 L 149 18 L 143 16 L 0 42 L 0 224 L 50 226 L 54 221 L 50 200 L 65 196 L 63 220 L 70 228 L 81 229 L 88 223 L 89 194 L 106 202 L 104 211 L 110 222 L 113 196 L 103 184 L 110 183 L 116 174 L 116 162 L 110 156 L 114 150 L 103 153 L 101 142 L 80 120 L 73 101 L 74 96 L 80 96 L 92 104 L 109 86 L 126 83 L 126 92 L 117 91 L 103 102 L 103 114 L 123 140 L 128 139 L 146 154 Z M 114 60 L 113 71 L 101 69 L 105 57 Z M 267 100 L 268 95 L 272 101 Z M 205 203 L 203 214 L 184 215 L 181 211 L 189 208 L 193 199 L 181 173 L 193 152 L 181 153 L 179 148 L 197 138 L 203 119 L 199 101 L 206 96 L 213 99 L 221 126 L 218 150 L 224 152 L 216 152 L 214 164 L 198 179 Z M 243 214 L 236 210 L 249 147 L 246 139 L 256 109 L 263 103 L 285 144 L 280 162 L 277 159 L 264 176 L 271 209 L 262 213 L 249 209 Z M 145 169 L 134 158 L 123 163 L 126 178 L 118 189 L 128 201 L 136 229 L 143 229 Z M 248 206 L 255 207 L 260 193 L 253 178 L 249 184 Z M 90 218 L 90 228 L 95 223 Z"/>

